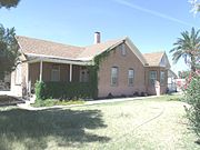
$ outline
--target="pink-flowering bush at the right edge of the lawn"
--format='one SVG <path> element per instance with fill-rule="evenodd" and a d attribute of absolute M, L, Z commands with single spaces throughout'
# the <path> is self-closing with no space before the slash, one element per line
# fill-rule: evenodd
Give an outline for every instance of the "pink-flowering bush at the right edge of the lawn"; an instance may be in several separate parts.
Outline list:
<path fill-rule="evenodd" d="M 200 138 L 200 77 L 193 77 L 184 90 L 184 99 L 190 104 L 187 108 L 187 117 L 190 120 L 191 129 Z"/>

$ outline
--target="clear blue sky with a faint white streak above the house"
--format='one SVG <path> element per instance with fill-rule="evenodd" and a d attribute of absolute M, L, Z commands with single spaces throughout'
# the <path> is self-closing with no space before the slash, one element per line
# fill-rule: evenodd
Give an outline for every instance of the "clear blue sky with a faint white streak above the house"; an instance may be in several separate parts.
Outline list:
<path fill-rule="evenodd" d="M 166 51 L 174 72 L 187 70 L 183 59 L 172 63 L 177 38 L 199 29 L 188 0 L 21 0 L 17 8 L 0 9 L 0 23 L 18 36 L 89 46 L 93 33 L 101 41 L 129 37 L 142 52 Z"/>

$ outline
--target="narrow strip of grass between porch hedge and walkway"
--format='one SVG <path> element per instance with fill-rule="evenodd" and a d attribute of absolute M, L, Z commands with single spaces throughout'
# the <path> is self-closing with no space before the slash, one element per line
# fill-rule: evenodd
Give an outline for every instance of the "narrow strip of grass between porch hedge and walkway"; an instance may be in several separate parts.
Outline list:
<path fill-rule="evenodd" d="M 32 103 L 32 107 L 53 107 L 53 106 L 69 106 L 69 104 L 83 104 L 83 100 L 53 100 L 53 99 L 47 99 L 47 100 L 36 100 L 34 103 Z"/>

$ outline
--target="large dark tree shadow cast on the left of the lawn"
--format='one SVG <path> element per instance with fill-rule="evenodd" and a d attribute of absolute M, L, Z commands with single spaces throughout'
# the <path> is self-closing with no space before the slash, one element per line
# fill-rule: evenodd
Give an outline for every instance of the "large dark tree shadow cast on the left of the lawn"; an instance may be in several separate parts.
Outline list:
<path fill-rule="evenodd" d="M 11 109 L 0 112 L 0 148 L 12 149 L 11 144 L 18 142 L 24 149 L 46 149 L 48 137 L 52 137 L 59 147 L 72 147 L 76 142 L 109 141 L 108 137 L 84 131 L 98 128 L 107 128 L 100 110 Z"/>

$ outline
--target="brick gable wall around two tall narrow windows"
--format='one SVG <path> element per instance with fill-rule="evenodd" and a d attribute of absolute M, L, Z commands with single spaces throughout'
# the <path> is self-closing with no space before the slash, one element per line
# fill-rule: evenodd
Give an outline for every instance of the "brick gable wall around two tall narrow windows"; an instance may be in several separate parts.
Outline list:
<path fill-rule="evenodd" d="M 101 62 L 99 77 L 99 97 L 107 97 L 109 93 L 113 96 L 132 96 L 136 91 L 146 92 L 144 87 L 144 68 L 141 61 L 126 46 L 127 54 L 121 54 L 120 47 L 112 50 L 109 56 Z M 119 68 L 118 86 L 111 86 L 111 68 Z M 132 87 L 128 84 L 128 70 L 134 70 L 134 83 Z"/>

